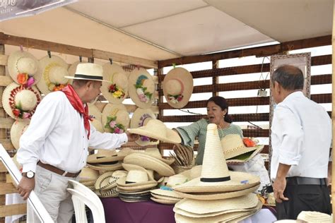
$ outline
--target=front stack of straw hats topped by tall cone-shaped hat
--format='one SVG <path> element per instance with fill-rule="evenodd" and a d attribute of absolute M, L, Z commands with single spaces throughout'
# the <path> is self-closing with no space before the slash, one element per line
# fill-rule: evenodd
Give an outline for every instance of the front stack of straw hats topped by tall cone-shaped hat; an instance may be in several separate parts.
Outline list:
<path fill-rule="evenodd" d="M 252 193 L 259 177 L 228 171 L 218 129 L 208 124 L 201 176 L 173 189 L 184 199 L 176 203 L 177 222 L 227 222 L 254 215 L 261 202 Z"/>

